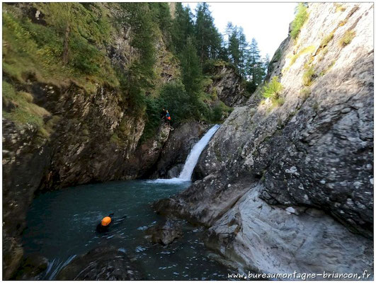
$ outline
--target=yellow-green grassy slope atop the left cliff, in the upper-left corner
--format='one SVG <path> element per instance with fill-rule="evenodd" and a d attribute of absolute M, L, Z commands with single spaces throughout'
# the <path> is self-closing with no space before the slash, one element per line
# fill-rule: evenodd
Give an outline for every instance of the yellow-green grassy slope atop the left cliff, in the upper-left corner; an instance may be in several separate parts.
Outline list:
<path fill-rule="evenodd" d="M 59 83 L 74 79 L 86 89 L 95 82 L 118 86 L 109 60 L 96 44 L 106 41 L 110 33 L 106 19 L 78 3 L 33 4 L 43 14 L 47 25 L 32 23 L 14 6 L 3 5 L 3 71 L 17 81 L 35 74 Z M 99 17 L 100 18 L 100 17 Z M 64 33 L 70 26 L 70 32 Z M 64 38 L 67 46 L 67 66 L 62 62 Z M 88 76 L 90 80 L 88 80 Z"/>

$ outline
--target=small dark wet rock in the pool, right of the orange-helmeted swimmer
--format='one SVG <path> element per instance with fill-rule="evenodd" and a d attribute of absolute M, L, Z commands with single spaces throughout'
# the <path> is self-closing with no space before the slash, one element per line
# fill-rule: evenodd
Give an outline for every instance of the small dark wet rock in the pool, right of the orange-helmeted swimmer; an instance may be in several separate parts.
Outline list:
<path fill-rule="evenodd" d="M 166 219 L 166 221 L 156 224 L 156 226 L 147 229 L 145 233 L 150 237 L 152 243 L 160 243 L 164 246 L 183 236 L 181 226 L 172 219 Z"/>

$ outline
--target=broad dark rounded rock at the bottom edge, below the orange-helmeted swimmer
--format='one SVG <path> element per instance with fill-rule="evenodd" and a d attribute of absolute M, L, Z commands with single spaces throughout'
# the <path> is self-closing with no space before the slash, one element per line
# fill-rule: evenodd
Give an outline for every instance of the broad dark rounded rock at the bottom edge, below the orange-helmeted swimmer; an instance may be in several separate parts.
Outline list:
<path fill-rule="evenodd" d="M 115 247 L 95 248 L 74 258 L 58 280 L 140 280 L 142 275 L 125 253 Z"/>

